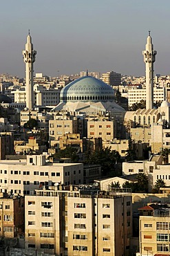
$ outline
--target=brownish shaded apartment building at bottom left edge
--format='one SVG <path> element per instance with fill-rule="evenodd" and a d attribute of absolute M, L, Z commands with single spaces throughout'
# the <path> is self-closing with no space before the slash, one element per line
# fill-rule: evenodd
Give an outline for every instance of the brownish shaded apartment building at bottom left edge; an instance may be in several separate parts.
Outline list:
<path fill-rule="evenodd" d="M 24 233 L 25 201 L 21 196 L 0 193 L 0 237 L 17 237 Z"/>

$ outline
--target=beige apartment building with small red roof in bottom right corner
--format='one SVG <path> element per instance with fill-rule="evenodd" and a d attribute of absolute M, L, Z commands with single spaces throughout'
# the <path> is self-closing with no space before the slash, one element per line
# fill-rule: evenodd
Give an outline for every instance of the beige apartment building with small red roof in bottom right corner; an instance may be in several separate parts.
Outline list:
<path fill-rule="evenodd" d="M 169 205 L 149 203 L 138 210 L 140 211 L 140 253 L 136 255 L 169 255 Z"/>

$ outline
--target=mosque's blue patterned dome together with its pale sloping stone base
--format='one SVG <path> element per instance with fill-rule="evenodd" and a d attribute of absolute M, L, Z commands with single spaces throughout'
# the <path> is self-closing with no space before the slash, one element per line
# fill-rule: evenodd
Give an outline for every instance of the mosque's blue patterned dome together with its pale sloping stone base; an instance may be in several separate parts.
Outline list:
<path fill-rule="evenodd" d="M 114 101 L 114 89 L 95 77 L 85 76 L 67 84 L 60 95 L 60 103 L 52 111 L 77 113 L 110 113 L 123 117 L 125 109 Z"/>

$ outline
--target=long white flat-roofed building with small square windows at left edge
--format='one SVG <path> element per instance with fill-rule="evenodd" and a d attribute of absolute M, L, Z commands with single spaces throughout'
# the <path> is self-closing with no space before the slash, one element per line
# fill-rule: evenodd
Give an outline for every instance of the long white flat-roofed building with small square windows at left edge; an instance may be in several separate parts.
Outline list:
<path fill-rule="evenodd" d="M 82 163 L 50 163 L 45 155 L 28 155 L 26 160 L 0 161 L 0 190 L 30 194 L 43 185 L 83 184 Z"/>

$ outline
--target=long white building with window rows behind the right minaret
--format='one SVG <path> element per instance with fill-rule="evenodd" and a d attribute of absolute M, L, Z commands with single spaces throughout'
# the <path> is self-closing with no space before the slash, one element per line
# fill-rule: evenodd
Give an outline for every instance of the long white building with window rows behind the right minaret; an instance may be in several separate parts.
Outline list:
<path fill-rule="evenodd" d="M 164 88 L 153 87 L 153 102 L 162 102 L 166 98 Z M 146 100 L 146 89 L 131 89 L 128 91 L 128 104 L 129 106 L 140 102 L 140 100 Z"/>

